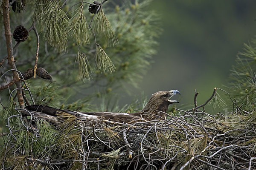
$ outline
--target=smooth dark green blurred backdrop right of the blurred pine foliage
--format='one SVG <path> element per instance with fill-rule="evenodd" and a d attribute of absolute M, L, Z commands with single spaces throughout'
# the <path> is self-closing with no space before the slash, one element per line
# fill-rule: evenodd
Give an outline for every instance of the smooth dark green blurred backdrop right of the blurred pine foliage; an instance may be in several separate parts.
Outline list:
<path fill-rule="evenodd" d="M 155 0 L 150 9 L 160 14 L 163 33 L 153 64 L 135 89 L 150 95 L 177 89 L 180 105 L 205 102 L 213 88 L 229 81 L 236 54 L 256 32 L 253 0 Z M 180 106 L 181 107 L 181 106 Z"/>

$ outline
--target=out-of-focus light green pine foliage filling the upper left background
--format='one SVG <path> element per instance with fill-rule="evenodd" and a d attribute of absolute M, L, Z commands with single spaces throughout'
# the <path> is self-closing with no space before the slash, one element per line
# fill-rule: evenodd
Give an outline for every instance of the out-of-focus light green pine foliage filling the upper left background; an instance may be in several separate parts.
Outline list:
<path fill-rule="evenodd" d="M 105 15 L 102 12 L 104 17 L 101 20 L 102 22 L 103 20 L 109 20 L 111 29 L 114 31 L 119 43 L 113 46 L 111 42 L 111 45 L 108 46 L 104 33 L 99 32 L 97 29 L 95 32 L 96 42 L 101 46 L 98 50 L 96 47 L 99 46 L 94 43 L 93 33 L 89 29 L 87 29 L 89 37 L 86 38 L 90 39 L 90 44 L 82 45 L 79 44 L 81 41 L 78 41 L 78 36 L 81 35 L 79 32 L 84 32 L 85 30 L 79 26 L 79 23 L 75 23 L 75 27 L 73 23 L 68 23 L 69 20 L 76 22 L 74 18 L 78 17 L 80 19 L 83 18 L 81 20 L 82 24 L 86 22 L 89 24 L 93 17 L 93 14 L 90 14 L 87 10 L 87 4 L 84 4 L 83 10 L 81 10 L 81 3 L 77 2 L 80 1 L 76 0 L 72 1 L 72 3 L 67 3 L 61 10 L 61 8 L 56 9 L 58 6 L 61 6 L 61 3 L 50 2 L 47 5 L 47 3 L 41 4 L 41 0 L 29 1 L 26 11 L 22 11 L 22 14 L 10 11 L 12 30 L 17 25 L 29 28 L 32 25 L 33 16 L 36 18 L 34 20 L 37 20 L 36 27 L 40 35 L 38 67 L 46 69 L 53 77 L 52 81 L 45 81 L 37 77 L 36 79 L 26 80 L 26 82 L 29 84 L 36 103 L 71 109 L 73 104 L 71 107 L 70 103 L 77 100 L 87 105 L 89 100 L 95 101 L 99 99 L 102 102 L 106 98 L 105 101 L 108 101 L 109 105 L 115 107 L 117 100 L 115 102 L 111 99 L 116 98 L 120 94 L 118 89 L 123 91 L 122 95 L 119 96 L 127 94 L 131 91 L 131 87 L 137 87 L 138 82 L 140 82 L 140 79 L 142 79 L 149 68 L 151 56 L 156 53 L 157 41 L 155 38 L 161 32 L 161 28 L 158 25 L 159 17 L 154 12 L 146 9 L 150 4 L 150 0 L 141 0 L 136 3 L 123 1 L 121 4 L 105 3 L 103 6 Z M 39 5 L 36 5 L 36 8 L 34 8 L 34 3 Z M 77 5 L 73 6 L 76 3 Z M 56 4 L 58 4 L 57 7 Z M 35 9 L 36 12 L 34 13 Z M 58 15 L 57 18 L 60 20 L 64 18 L 67 24 L 54 22 L 54 17 L 48 16 L 47 11 Z M 78 14 L 77 11 L 82 14 Z M 84 17 L 86 17 L 86 22 Z M 93 22 L 96 22 L 96 19 L 95 17 Z M 93 26 L 96 26 L 96 24 L 92 24 L 92 29 L 95 30 L 96 28 Z M 72 30 L 74 28 L 77 28 L 75 30 L 78 31 L 76 34 Z M 104 28 L 105 32 L 106 30 L 108 29 Z M 0 31 L 1 36 L 4 37 L 3 26 L 0 27 Z M 73 34 L 76 36 L 73 37 Z M 108 34 L 110 38 L 113 38 L 112 33 Z M 63 41 L 61 41 L 61 37 L 64 38 Z M 4 38 L 0 40 L 0 56 L 6 55 L 4 40 Z M 87 42 L 89 41 L 87 40 Z M 34 67 L 36 44 L 35 34 L 31 31 L 29 32 L 28 40 L 20 43 L 18 46 L 18 49 L 15 51 L 15 59 L 17 59 L 16 66 L 19 71 L 24 72 L 28 68 Z M 65 46 L 66 44 L 67 47 Z M 57 48 L 51 45 L 57 46 Z M 67 53 L 61 53 L 61 51 L 66 50 Z M 80 51 L 79 54 L 83 55 L 78 55 L 78 51 Z M 77 56 L 84 58 L 76 61 Z M 99 63 L 99 57 L 102 57 L 101 61 L 105 59 L 106 62 Z M 111 61 L 106 57 L 109 57 Z M 114 65 L 111 65 L 111 69 L 116 68 L 112 74 L 105 72 L 105 69 L 108 68 L 107 66 L 111 62 Z M 89 64 L 92 66 L 90 70 L 88 70 Z M 101 68 L 104 65 L 106 67 Z M 9 69 L 7 62 L 5 62 L 4 67 L 4 69 L 1 69 L 2 74 Z M 81 72 L 85 71 L 87 73 L 83 76 Z M 90 81 L 85 79 L 89 76 L 91 78 Z M 7 74 L 7 78 L 11 78 L 11 72 Z M 81 81 L 81 78 L 84 81 Z M 1 81 L 4 84 L 4 80 Z M 2 98 L 9 96 L 7 90 L 5 93 L 5 95 L 2 95 Z M 7 98 L 2 100 L 5 101 L 5 99 Z M 82 107 L 80 104 L 76 105 L 76 109 L 86 109 L 86 107 Z M 96 107 L 90 109 L 96 109 Z M 105 110 L 108 109 L 105 108 Z"/>

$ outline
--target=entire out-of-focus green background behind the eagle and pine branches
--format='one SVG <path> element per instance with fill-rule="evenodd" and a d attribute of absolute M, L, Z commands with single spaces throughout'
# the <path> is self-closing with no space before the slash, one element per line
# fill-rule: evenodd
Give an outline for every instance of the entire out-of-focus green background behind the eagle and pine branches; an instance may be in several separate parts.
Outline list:
<path fill-rule="evenodd" d="M 75 2 L 70 1 L 63 10 L 67 12 Z M 64 104 L 68 107 L 71 102 L 79 99 L 83 100 L 81 103 L 85 103 L 84 101 L 96 98 L 93 101 L 97 105 L 96 109 L 111 111 L 109 107 L 100 108 L 99 105 L 109 102 L 122 108 L 135 99 L 138 102 L 148 99 L 157 91 L 177 89 L 181 93 L 181 96 L 174 97 L 180 101 L 178 108 L 187 109 L 194 105 L 195 89 L 199 92 L 198 105 L 209 98 L 215 87 L 228 91 L 224 85 L 230 81 L 230 69 L 236 64 L 236 55 L 243 51 L 243 44 L 249 43 L 256 32 L 256 1 L 152 0 L 149 3 L 149 0 L 139 0 L 139 3 L 146 3 L 148 6 L 141 8 L 142 11 L 138 10 L 138 13 L 135 12 L 137 7 L 134 8 L 131 4 L 124 6 L 130 2 L 136 4 L 137 0 L 109 0 L 106 3 L 105 14 L 119 39 L 119 44 L 106 48 L 106 53 L 117 69 L 114 74 L 99 74 L 96 70 L 90 81 L 83 82 L 77 78 L 78 66 L 75 60 L 78 44 L 70 40 L 68 54 L 61 54 L 44 41 L 45 33 L 41 31 L 44 24 L 41 29 L 38 26 L 41 38 L 39 63 L 40 67 L 47 69 L 53 76 L 53 90 L 49 88 L 49 96 L 52 96 L 52 100 L 55 96 L 53 102 L 49 99 L 43 104 L 56 107 Z M 87 16 L 87 22 L 90 22 L 93 15 L 89 14 L 87 8 L 84 7 L 84 15 Z M 148 13 L 152 10 L 158 14 L 160 22 L 154 22 L 157 19 Z M 34 7 L 29 5 L 22 13 L 15 14 L 11 10 L 11 29 L 14 30 L 18 25 L 29 28 L 33 11 Z M 73 15 L 68 14 L 70 18 Z M 145 21 L 150 24 L 145 24 Z M 2 57 L 6 55 L 6 42 L 3 25 L 0 28 Z M 155 38 L 151 32 L 156 34 L 159 28 L 161 34 Z M 97 38 L 100 42 L 100 36 Z M 154 45 L 154 40 L 158 45 Z M 19 61 L 16 65 L 21 72 L 34 67 L 35 44 L 35 35 L 29 34 L 29 40 L 23 42 L 15 52 Z M 95 51 L 92 49 L 95 49 L 94 43 L 80 47 L 94 67 Z M 157 52 L 151 59 L 148 58 L 154 53 L 154 49 Z M 5 64 L 5 69 L 8 69 L 7 62 Z M 1 73 L 5 69 L 1 69 Z M 11 76 L 10 74 L 9 77 Z M 27 82 L 35 88 L 35 98 L 43 94 L 39 92 L 44 92 L 44 88 L 50 83 L 42 79 L 29 79 Z M 58 96 L 52 94 L 52 91 L 58 93 Z M 8 98 L 7 90 L 5 94 Z M 104 98 L 104 95 L 111 96 L 111 99 Z M 38 101 L 39 99 L 41 98 L 38 97 Z"/>

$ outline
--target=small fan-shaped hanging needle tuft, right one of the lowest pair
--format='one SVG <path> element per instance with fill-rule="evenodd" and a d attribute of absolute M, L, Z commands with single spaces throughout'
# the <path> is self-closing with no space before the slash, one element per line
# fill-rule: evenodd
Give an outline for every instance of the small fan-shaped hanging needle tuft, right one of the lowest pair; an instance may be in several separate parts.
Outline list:
<path fill-rule="evenodd" d="M 102 47 L 98 44 L 96 46 L 96 66 L 99 68 L 99 71 L 104 72 L 114 72 L 115 71 L 115 65 L 111 61 L 111 59 L 108 57 L 108 55 L 105 53 L 105 51 L 102 49 Z"/>

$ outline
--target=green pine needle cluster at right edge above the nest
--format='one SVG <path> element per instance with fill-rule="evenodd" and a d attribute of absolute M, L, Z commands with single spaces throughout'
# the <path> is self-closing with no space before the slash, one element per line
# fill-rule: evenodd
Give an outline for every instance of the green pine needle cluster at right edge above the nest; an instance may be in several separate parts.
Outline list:
<path fill-rule="evenodd" d="M 235 104 L 246 111 L 256 109 L 256 39 L 244 44 L 230 74 L 231 83 L 227 87 Z"/>

